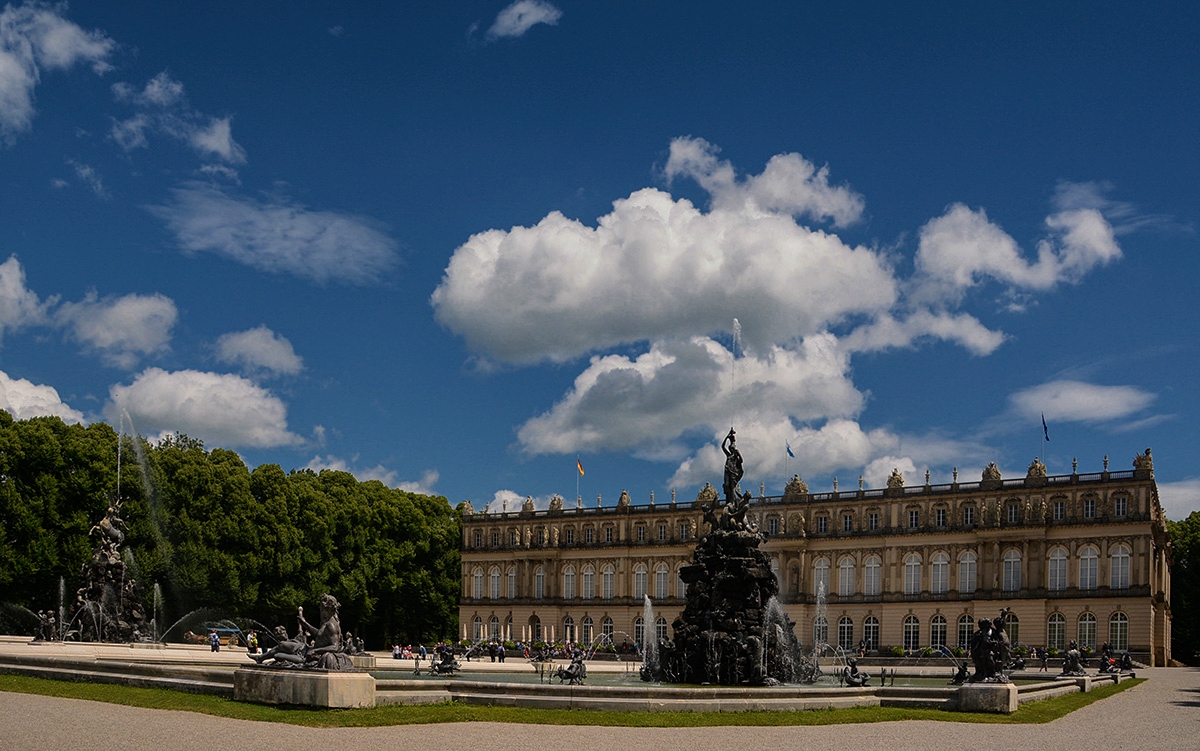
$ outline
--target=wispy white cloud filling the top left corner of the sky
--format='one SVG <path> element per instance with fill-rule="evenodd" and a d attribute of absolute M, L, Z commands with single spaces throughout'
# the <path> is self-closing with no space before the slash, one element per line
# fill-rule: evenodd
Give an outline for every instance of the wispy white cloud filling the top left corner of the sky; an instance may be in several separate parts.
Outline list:
<path fill-rule="evenodd" d="M 0 11 L 0 142 L 11 145 L 34 120 L 34 89 L 43 71 L 91 64 L 96 73 L 112 66 L 115 42 L 85 31 L 62 17 L 66 4 L 25 2 Z"/>

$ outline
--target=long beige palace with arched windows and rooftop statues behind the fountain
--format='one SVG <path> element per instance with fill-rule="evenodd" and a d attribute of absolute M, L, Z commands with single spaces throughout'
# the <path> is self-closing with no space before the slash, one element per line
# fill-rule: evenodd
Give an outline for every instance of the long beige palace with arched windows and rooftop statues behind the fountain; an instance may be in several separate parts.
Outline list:
<path fill-rule="evenodd" d="M 965 645 L 978 618 L 1012 608 L 1009 638 L 1093 650 L 1108 642 L 1152 666 L 1171 656 L 1170 542 L 1150 449 L 1134 468 L 1026 476 L 995 464 L 976 482 L 810 493 L 754 500 L 779 599 L 805 648 Z M 1075 469 L 1078 470 L 1078 463 Z M 673 495 L 673 493 L 672 493 Z M 684 607 L 679 569 L 707 531 L 695 501 L 479 513 L 462 539 L 461 636 L 636 645 L 671 636 Z M 649 595 L 654 621 L 644 623 Z"/>

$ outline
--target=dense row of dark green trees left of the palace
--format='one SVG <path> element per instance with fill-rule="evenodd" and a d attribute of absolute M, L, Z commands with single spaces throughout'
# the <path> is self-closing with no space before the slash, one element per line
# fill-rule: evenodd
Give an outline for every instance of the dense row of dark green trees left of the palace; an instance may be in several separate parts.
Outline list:
<path fill-rule="evenodd" d="M 442 497 L 359 482 L 344 471 L 250 470 L 186 435 L 121 435 L 127 566 L 163 593 L 162 626 L 197 608 L 293 630 L 322 593 L 343 629 L 379 648 L 457 632 L 461 519 Z M 91 555 L 88 530 L 118 488 L 112 426 L 0 410 L 0 600 L 68 608 Z M 128 559 L 127 559 L 128 560 Z"/>

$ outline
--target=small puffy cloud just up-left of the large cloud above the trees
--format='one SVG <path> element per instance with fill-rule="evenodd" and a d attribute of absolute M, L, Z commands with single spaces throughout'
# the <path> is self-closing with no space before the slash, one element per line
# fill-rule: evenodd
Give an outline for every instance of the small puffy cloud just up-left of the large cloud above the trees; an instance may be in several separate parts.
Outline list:
<path fill-rule="evenodd" d="M 94 292 L 79 302 L 62 304 L 54 316 L 72 338 L 100 353 L 104 362 L 122 368 L 164 352 L 178 319 L 175 302 L 164 295 L 101 299 Z"/>

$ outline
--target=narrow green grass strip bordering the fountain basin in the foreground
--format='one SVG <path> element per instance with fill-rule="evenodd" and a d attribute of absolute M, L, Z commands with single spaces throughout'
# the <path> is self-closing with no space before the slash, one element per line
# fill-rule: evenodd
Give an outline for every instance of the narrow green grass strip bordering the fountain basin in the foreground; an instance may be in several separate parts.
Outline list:
<path fill-rule="evenodd" d="M 1070 693 L 1043 702 L 1025 704 L 1012 715 L 971 714 L 941 709 L 895 709 L 858 707 L 814 711 L 748 713 L 626 713 L 571 709 L 522 709 L 514 707 L 474 707 L 433 704 L 425 707 L 377 707 L 374 709 L 298 709 L 245 704 L 233 699 L 166 689 L 136 689 L 109 684 L 84 684 L 0 674 L 0 691 L 37 693 L 91 702 L 108 702 L 148 709 L 198 711 L 220 717 L 288 722 L 307 727 L 378 727 L 388 725 L 425 725 L 431 722 L 522 722 L 530 725 L 602 725 L 620 727 L 706 727 L 716 725 L 847 725 L 853 722 L 890 722 L 899 720 L 940 720 L 943 722 L 1050 722 L 1080 707 L 1132 689 L 1145 679 L 1105 685 L 1088 693 Z"/>

